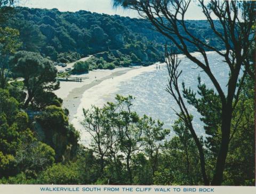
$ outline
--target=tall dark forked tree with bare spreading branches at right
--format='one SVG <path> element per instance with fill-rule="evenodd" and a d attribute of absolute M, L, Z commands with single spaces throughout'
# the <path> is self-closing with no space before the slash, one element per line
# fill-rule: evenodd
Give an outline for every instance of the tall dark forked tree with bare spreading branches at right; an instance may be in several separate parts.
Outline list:
<path fill-rule="evenodd" d="M 137 10 L 142 17 L 147 18 L 154 25 L 157 31 L 169 38 L 179 51 L 184 53 L 188 59 L 196 63 L 197 66 L 210 78 L 215 90 L 217 91 L 218 98 L 221 101 L 220 147 L 217 154 L 217 161 L 215 163 L 214 175 L 211 181 L 205 172 L 205 158 L 202 143 L 198 141 L 194 127 L 191 124 L 190 115 L 182 101 L 182 95 L 175 86 L 173 86 L 173 90 L 178 92 L 176 97 L 181 109 L 181 114 L 178 113 L 178 115 L 185 121 L 186 125 L 189 126 L 189 130 L 193 135 L 199 151 L 204 184 L 220 185 L 228 154 L 232 115 L 239 100 L 241 87 L 244 84 L 243 77 L 247 74 L 253 74 L 250 69 L 250 63 L 247 63 L 246 59 L 249 52 L 249 46 L 254 41 L 254 33 L 251 29 L 255 20 L 255 2 L 210 1 L 205 3 L 204 1 L 199 1 L 199 5 L 202 7 L 202 12 L 206 17 L 211 30 L 218 37 L 219 41 L 225 44 L 226 48 L 224 52 L 219 51 L 215 45 L 210 45 L 205 41 L 202 41 L 201 38 L 187 28 L 185 23 L 185 14 L 190 5 L 189 0 L 115 0 L 114 5 L 122 5 L 124 7 L 130 7 L 131 9 Z M 221 28 L 217 28 L 215 26 L 216 22 L 212 19 L 213 14 L 218 18 Z M 181 32 L 185 34 L 182 34 Z M 188 46 L 189 44 L 197 48 L 197 51 L 203 56 L 204 61 L 199 61 L 196 56 L 191 55 Z M 223 88 L 221 88 L 217 78 L 211 71 L 211 66 L 206 54 L 207 50 L 217 52 L 222 58 L 224 58 L 223 64 L 226 64 L 230 69 L 227 94 L 223 92 Z M 169 55 L 170 54 L 167 53 L 167 56 Z M 244 68 L 245 70 L 242 72 L 242 81 L 238 83 L 239 75 L 241 75 L 241 68 Z M 170 77 L 171 79 L 174 77 L 174 79 L 177 80 L 179 75 L 175 74 L 173 70 Z M 172 87 L 172 83 L 173 81 L 170 83 L 170 87 Z M 215 131 L 217 131 L 217 128 L 215 128 Z"/>

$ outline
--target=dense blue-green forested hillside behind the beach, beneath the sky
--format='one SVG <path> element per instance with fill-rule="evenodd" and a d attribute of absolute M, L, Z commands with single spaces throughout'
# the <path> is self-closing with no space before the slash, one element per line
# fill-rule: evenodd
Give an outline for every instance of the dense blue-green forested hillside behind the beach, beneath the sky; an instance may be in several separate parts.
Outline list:
<path fill-rule="evenodd" d="M 186 22 L 191 33 L 206 43 L 219 46 L 220 50 L 223 48 L 206 21 Z M 6 26 L 20 31 L 20 50 L 40 52 L 58 62 L 70 62 L 109 50 L 118 50 L 111 55 L 124 64 L 155 62 L 163 59 L 163 45 L 168 42 L 153 30 L 149 21 L 87 11 L 60 12 L 57 9 L 17 7 Z M 189 50 L 196 51 L 196 48 L 191 45 Z M 113 61 L 106 57 L 103 59 Z"/>

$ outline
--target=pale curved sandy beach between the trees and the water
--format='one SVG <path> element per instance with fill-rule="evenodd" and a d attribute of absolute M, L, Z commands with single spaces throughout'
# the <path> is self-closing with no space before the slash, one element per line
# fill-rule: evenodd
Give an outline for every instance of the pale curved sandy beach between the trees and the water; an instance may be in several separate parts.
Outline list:
<path fill-rule="evenodd" d="M 155 65 L 148 67 L 116 68 L 113 70 L 97 69 L 88 74 L 72 75 L 71 77 L 87 77 L 83 82 L 60 82 L 60 88 L 54 93 L 63 99 L 62 106 L 69 110 L 69 120 L 81 132 L 81 143 L 88 144 L 89 135 L 83 130 L 80 122 L 83 117 L 83 108 L 89 109 L 92 104 L 103 105 L 102 96 L 110 95 L 123 81 L 143 72 L 153 71 Z"/>

